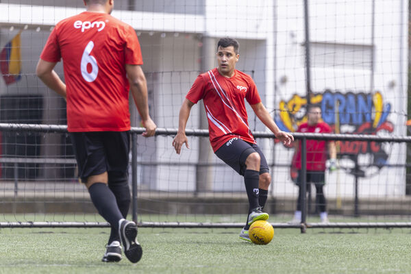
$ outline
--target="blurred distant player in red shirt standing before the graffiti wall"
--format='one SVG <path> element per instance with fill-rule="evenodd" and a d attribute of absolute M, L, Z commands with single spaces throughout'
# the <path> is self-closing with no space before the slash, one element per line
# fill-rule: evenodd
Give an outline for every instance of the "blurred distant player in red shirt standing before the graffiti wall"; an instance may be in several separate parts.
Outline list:
<path fill-rule="evenodd" d="M 307 108 L 307 122 L 299 125 L 297 132 L 331 133 L 332 129 L 327 123 L 321 121 L 321 108 L 318 105 L 309 105 Z M 296 182 L 299 186 L 299 197 L 297 199 L 297 210 L 294 219 L 290 223 L 301 223 L 301 141 L 295 142 L 295 153 L 292 157 L 292 170 L 297 170 Z M 307 184 L 313 183 L 316 189 L 316 201 L 320 210 L 322 223 L 328 223 L 327 201 L 324 195 L 325 184 L 325 162 L 329 154 L 329 169 L 336 169 L 336 146 L 334 141 L 307 140 Z M 293 172 L 292 172 L 293 173 Z"/>

